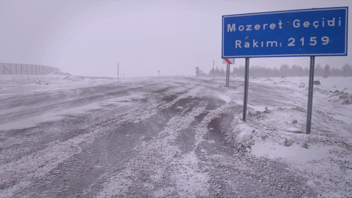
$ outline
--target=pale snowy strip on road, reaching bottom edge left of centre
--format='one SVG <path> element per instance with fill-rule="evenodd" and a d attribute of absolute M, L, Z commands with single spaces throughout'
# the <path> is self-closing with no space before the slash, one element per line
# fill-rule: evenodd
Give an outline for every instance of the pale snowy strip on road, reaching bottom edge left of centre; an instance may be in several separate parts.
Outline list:
<path fill-rule="evenodd" d="M 122 173 L 111 178 L 98 193 L 98 197 L 137 196 L 137 194 L 133 194 L 135 192 L 141 193 L 141 195 L 155 192 L 153 196 L 159 197 L 162 196 L 161 193 L 158 193 L 160 190 L 170 190 L 168 187 L 163 188 L 161 186 L 170 186 L 168 182 L 165 183 L 165 180 L 171 177 L 172 170 L 170 170 L 170 167 L 180 166 L 172 159 L 181 152 L 177 146 L 172 146 L 171 142 L 177 138 L 178 131 L 188 128 L 189 124 L 194 121 L 195 116 L 204 112 L 205 108 L 206 103 L 202 102 L 185 115 L 172 117 L 167 122 L 164 130 L 154 140 L 149 143 L 144 142 L 144 145 L 142 144 L 138 148 L 140 150 L 139 155 L 128 163 L 128 168 L 124 169 Z M 206 175 L 202 175 L 200 178 L 206 178 Z M 170 182 L 177 185 L 176 180 Z M 177 190 L 177 187 L 173 188 L 174 191 Z M 178 189 L 179 191 L 180 189 Z M 193 192 L 193 195 L 204 191 L 207 191 L 206 181 L 199 185 L 197 192 Z"/>

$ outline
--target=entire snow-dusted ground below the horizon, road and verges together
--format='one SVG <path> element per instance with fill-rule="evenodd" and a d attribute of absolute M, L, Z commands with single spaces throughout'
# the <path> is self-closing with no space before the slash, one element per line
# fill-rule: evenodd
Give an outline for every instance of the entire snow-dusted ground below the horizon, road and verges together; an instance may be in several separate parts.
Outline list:
<path fill-rule="evenodd" d="M 351 86 L 315 89 L 307 136 L 300 79 L 253 79 L 243 123 L 240 78 L 12 77 L 2 198 L 352 196 Z"/>

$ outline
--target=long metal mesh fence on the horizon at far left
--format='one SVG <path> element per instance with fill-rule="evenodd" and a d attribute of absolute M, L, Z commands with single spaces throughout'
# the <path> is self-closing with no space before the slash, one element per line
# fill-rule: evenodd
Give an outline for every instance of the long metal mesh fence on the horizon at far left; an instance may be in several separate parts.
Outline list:
<path fill-rule="evenodd" d="M 26 74 L 45 75 L 59 71 L 59 68 L 37 64 L 0 63 L 0 75 L 6 74 Z"/>

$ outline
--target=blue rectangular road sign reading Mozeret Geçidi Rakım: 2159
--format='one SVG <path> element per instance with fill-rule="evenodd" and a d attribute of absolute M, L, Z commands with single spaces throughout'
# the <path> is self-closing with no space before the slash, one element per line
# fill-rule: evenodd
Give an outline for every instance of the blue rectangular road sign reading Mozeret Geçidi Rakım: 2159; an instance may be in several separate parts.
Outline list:
<path fill-rule="evenodd" d="M 222 16 L 221 58 L 347 56 L 348 7 Z"/>

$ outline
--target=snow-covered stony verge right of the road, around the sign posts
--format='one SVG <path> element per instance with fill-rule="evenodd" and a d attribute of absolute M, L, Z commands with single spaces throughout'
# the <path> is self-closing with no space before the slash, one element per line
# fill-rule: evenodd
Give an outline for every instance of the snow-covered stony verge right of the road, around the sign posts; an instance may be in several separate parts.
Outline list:
<path fill-rule="evenodd" d="M 352 78 L 315 80 L 321 85 L 314 85 L 310 135 L 305 134 L 308 77 L 251 78 L 247 122 L 242 114 L 235 117 L 226 138 L 244 155 L 287 163 L 323 197 L 351 197 Z M 286 99 L 251 101 L 251 87 L 258 86 L 278 89 Z"/>

